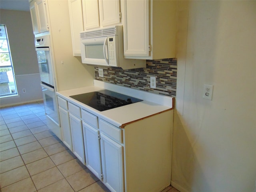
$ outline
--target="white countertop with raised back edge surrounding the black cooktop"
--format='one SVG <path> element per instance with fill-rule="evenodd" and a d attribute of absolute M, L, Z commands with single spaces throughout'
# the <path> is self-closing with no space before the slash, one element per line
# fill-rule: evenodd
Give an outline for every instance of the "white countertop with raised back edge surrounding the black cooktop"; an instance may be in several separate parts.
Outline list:
<path fill-rule="evenodd" d="M 143 99 L 143 101 L 100 112 L 70 97 L 72 95 L 94 92 L 103 89 L 108 89 L 114 92 L 119 92 L 121 94 L 140 98 Z M 57 95 L 98 116 L 99 118 L 102 118 L 111 124 L 122 128 L 126 124 L 164 112 L 166 110 L 171 110 L 173 107 L 172 97 L 152 94 L 131 88 L 125 88 L 114 84 L 100 82 L 98 80 L 94 80 L 94 86 L 64 90 L 57 92 Z M 152 102 L 153 100 L 156 102 Z"/>

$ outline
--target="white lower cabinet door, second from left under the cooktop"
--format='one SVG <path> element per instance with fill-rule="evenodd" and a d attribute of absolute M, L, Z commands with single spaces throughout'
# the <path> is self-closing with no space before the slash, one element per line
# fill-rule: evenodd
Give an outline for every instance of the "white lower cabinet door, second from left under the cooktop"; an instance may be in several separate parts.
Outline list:
<path fill-rule="evenodd" d="M 85 164 L 82 120 L 72 115 L 71 113 L 69 114 L 69 120 L 72 136 L 73 153 L 83 164 Z"/>

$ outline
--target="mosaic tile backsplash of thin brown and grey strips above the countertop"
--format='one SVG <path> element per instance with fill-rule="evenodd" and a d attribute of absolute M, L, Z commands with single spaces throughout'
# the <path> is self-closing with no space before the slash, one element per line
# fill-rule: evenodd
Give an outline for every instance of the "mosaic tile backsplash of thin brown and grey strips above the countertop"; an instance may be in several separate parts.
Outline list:
<path fill-rule="evenodd" d="M 99 77 L 99 68 L 94 67 L 95 79 L 120 86 L 175 97 L 177 59 L 147 60 L 146 64 L 146 68 L 130 70 L 100 67 L 103 68 L 104 78 Z M 150 88 L 150 76 L 156 77 L 156 89 Z"/>

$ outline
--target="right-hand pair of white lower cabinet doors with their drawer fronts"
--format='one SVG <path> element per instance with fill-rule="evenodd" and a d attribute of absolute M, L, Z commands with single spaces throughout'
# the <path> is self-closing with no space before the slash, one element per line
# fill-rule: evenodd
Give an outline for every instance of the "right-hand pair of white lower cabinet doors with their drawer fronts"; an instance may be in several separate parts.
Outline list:
<path fill-rule="evenodd" d="M 82 110 L 82 120 L 86 166 L 112 192 L 123 192 L 124 164 L 121 129 L 102 119 L 98 121 L 97 116 L 86 110 Z"/>

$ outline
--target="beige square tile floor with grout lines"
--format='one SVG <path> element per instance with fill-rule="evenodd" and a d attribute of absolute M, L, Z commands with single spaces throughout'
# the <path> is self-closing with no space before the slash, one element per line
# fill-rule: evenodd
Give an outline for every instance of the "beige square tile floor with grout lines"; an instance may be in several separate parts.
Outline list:
<path fill-rule="evenodd" d="M 49 130 L 42 102 L 0 109 L 0 186 L 1 192 L 109 192 Z"/>

